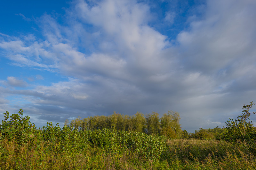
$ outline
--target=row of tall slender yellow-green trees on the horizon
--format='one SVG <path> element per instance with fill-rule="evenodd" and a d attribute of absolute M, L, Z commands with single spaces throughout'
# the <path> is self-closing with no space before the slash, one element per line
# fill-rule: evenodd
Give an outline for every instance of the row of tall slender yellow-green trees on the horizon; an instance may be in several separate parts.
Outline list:
<path fill-rule="evenodd" d="M 161 118 L 157 112 L 152 112 L 145 116 L 141 112 L 137 112 L 129 116 L 114 111 L 109 116 L 97 115 L 84 119 L 78 117 L 71 120 L 70 123 L 66 119 L 65 125 L 80 131 L 94 131 L 109 128 L 117 131 L 144 132 L 149 135 L 163 134 L 170 138 L 179 138 L 183 135 L 180 125 L 180 114 L 176 111 L 168 111 Z"/>

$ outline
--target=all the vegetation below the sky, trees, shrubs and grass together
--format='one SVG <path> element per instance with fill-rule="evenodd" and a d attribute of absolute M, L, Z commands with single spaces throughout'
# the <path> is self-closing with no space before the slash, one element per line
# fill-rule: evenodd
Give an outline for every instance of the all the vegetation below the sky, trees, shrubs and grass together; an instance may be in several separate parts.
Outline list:
<path fill-rule="evenodd" d="M 22 109 L 6 112 L 0 169 L 256 169 L 256 131 L 248 122 L 252 105 L 244 105 L 225 128 L 193 134 L 180 130 L 179 114 L 172 111 L 161 118 L 156 112 L 146 117 L 114 112 L 67 121 L 63 128 L 47 122 L 41 129 Z"/>

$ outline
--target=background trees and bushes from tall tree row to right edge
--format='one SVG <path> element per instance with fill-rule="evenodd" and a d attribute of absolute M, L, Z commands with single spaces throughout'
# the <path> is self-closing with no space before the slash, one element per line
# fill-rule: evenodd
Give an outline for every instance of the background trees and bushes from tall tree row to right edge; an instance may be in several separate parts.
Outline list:
<path fill-rule="evenodd" d="M 255 112 L 249 112 L 253 105 L 255 104 L 252 102 L 249 105 L 244 104 L 242 115 L 239 115 L 236 120 L 229 119 L 226 122 L 226 127 L 217 126 L 213 129 L 200 127 L 194 133 L 181 130 L 180 114 L 173 111 L 164 113 L 161 118 L 157 112 L 145 116 L 140 112 L 132 116 L 114 112 L 109 116 L 93 116 L 84 119 L 78 117 L 71 120 L 70 123 L 66 120 L 65 125 L 80 131 L 109 128 L 117 131 L 144 132 L 148 135 L 162 134 L 169 138 L 221 139 L 229 142 L 240 139 L 244 142 L 247 141 L 256 152 L 256 127 L 253 126 L 252 121 L 249 121 L 249 116 L 255 114 Z"/>

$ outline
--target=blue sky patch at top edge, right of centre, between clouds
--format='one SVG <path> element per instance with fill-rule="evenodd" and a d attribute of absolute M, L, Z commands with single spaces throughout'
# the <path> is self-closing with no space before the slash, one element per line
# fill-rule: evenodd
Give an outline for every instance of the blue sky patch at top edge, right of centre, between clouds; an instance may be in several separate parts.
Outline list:
<path fill-rule="evenodd" d="M 175 40 L 177 35 L 189 27 L 188 18 L 192 16 L 201 17 L 200 6 L 205 5 L 205 0 L 181 0 L 181 1 L 158 1 L 150 6 L 153 19 L 149 25 L 158 32 L 167 36 L 169 41 Z M 173 15 L 170 20 L 166 16 Z M 155 16 L 154 16 L 155 15 Z M 173 17 L 173 18 L 172 18 Z"/>

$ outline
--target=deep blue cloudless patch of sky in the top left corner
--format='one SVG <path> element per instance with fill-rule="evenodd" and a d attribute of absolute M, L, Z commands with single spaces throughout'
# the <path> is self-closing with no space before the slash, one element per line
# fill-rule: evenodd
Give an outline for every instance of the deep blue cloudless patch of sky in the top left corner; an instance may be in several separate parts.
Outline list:
<path fill-rule="evenodd" d="M 37 0 L 37 1 L 1 1 L 0 33 L 19 36 L 21 33 L 37 33 L 36 21 L 44 13 L 65 13 L 67 1 Z"/>

